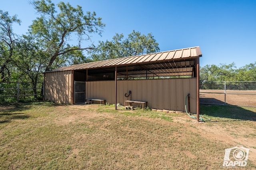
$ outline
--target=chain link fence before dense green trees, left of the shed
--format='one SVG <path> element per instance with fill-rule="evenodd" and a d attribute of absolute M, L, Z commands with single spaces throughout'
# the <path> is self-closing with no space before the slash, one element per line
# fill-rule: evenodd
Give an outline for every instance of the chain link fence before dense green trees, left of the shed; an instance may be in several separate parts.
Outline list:
<path fill-rule="evenodd" d="M 0 103 L 26 102 L 40 97 L 42 83 L 0 82 Z"/>

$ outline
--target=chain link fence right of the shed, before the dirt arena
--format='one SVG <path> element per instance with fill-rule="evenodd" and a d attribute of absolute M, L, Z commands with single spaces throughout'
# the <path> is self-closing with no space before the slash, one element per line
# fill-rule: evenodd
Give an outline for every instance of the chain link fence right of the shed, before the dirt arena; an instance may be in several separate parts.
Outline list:
<path fill-rule="evenodd" d="M 200 82 L 200 103 L 256 107 L 256 81 Z"/>

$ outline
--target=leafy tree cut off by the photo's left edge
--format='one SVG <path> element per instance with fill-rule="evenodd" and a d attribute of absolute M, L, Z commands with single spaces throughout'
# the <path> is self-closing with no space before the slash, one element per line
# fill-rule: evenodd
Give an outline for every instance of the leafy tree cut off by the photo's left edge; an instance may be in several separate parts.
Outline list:
<path fill-rule="evenodd" d="M 10 79 L 12 70 L 12 55 L 17 35 L 12 30 L 13 24 L 19 24 L 16 15 L 9 16 L 8 12 L 0 10 L 0 82 Z"/>

